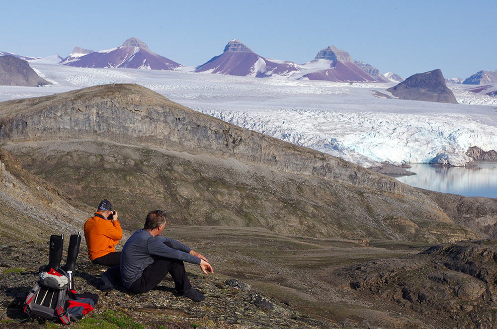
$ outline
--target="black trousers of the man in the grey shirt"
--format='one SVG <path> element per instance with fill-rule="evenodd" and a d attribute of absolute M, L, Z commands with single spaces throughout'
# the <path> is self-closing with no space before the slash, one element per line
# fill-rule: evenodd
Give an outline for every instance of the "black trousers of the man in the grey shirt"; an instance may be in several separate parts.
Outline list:
<path fill-rule="evenodd" d="M 166 242 L 165 244 L 172 248 L 170 243 Z M 152 264 L 145 268 L 142 276 L 133 282 L 129 289 L 137 294 L 146 293 L 157 287 L 167 273 L 171 274 L 174 280 L 174 289 L 179 294 L 191 289 L 183 261 L 166 257 L 157 257 Z"/>

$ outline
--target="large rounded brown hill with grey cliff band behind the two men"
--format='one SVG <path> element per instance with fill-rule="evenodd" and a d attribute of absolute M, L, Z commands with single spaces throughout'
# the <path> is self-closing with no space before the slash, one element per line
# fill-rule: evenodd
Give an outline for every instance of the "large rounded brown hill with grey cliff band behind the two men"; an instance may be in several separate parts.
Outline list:
<path fill-rule="evenodd" d="M 445 242 L 476 237 L 420 191 L 174 103 L 103 85 L 0 103 L 0 141 L 31 172 L 128 228 L 172 222 L 283 234 Z"/>

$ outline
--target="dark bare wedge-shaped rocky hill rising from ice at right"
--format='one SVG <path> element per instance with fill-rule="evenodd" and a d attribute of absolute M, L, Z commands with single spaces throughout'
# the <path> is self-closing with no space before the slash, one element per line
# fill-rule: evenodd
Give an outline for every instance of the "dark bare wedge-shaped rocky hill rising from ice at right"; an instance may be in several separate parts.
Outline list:
<path fill-rule="evenodd" d="M 387 91 L 400 99 L 457 104 L 440 70 L 415 74 Z"/>

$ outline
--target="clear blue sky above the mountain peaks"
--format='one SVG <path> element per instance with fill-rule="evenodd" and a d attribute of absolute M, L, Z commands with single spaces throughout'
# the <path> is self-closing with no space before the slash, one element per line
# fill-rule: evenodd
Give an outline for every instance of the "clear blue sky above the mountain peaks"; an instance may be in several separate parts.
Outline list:
<path fill-rule="evenodd" d="M 497 70 L 495 0 L 59 1 L 0 0 L 0 51 L 23 56 L 94 51 L 136 37 L 186 66 L 236 38 L 260 56 L 309 62 L 334 45 L 381 73 L 445 78 Z"/>

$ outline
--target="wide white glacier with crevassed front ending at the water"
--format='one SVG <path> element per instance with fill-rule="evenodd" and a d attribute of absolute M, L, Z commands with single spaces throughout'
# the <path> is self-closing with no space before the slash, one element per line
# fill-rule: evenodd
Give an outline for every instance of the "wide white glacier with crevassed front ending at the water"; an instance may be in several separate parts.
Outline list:
<path fill-rule="evenodd" d="M 497 98 L 449 84 L 460 104 L 375 97 L 396 83 L 339 83 L 30 62 L 44 87 L 0 86 L 0 101 L 107 83 L 138 83 L 194 110 L 365 167 L 464 165 L 471 146 L 497 150 Z M 437 158 L 438 156 L 438 158 Z"/>

